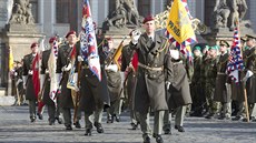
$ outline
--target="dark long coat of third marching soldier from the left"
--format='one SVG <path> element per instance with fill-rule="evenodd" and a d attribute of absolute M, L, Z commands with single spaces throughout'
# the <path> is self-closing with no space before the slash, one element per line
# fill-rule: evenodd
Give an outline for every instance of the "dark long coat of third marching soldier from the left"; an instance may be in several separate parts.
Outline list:
<path fill-rule="evenodd" d="M 73 102 L 71 96 L 71 90 L 67 88 L 67 82 L 69 78 L 69 72 L 62 72 L 61 68 L 66 67 L 70 62 L 70 52 L 72 48 L 69 44 L 65 44 L 58 50 L 58 59 L 57 59 L 57 73 L 62 73 L 62 82 L 61 82 L 61 94 L 59 96 L 60 108 L 72 109 Z"/>

